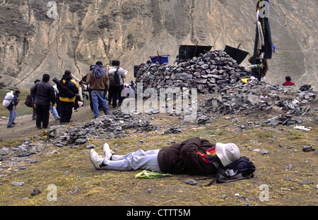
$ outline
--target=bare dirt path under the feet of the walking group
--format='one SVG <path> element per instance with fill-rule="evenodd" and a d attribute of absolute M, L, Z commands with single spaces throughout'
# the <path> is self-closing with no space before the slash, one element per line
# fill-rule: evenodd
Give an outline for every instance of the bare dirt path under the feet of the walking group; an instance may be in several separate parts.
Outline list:
<path fill-rule="evenodd" d="M 110 106 L 110 112 L 112 112 L 112 106 Z M 93 118 L 93 111 L 90 110 L 90 106 L 83 106 L 78 111 L 73 111 L 73 122 L 67 125 L 76 125 L 81 121 L 87 121 Z M 32 120 L 32 115 L 17 116 L 16 125 L 13 128 L 6 128 L 8 123 L 8 117 L 0 118 L 0 140 L 6 140 L 11 138 L 25 138 L 30 136 L 40 135 L 45 129 L 38 130 L 35 127 L 35 121 Z M 49 116 L 49 126 L 58 126 L 59 121 L 55 121 L 52 114 Z"/>

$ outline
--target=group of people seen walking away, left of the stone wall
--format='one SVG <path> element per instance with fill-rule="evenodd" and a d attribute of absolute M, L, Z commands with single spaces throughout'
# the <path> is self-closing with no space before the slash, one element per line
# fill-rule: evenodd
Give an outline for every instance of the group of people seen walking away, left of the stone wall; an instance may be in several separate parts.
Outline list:
<path fill-rule="evenodd" d="M 30 93 L 33 98 L 33 120 L 35 120 L 36 128 L 47 128 L 50 112 L 60 124 L 71 122 L 73 109 L 77 111 L 78 107 L 83 106 L 85 97 L 88 99 L 85 92 L 90 94 L 93 118 L 100 116 L 100 108 L 104 114 L 108 114 L 108 104 L 112 104 L 115 108 L 117 100 L 119 100 L 118 106 L 120 106 L 123 101 L 121 92 L 127 72 L 119 65 L 119 61 L 112 61 L 112 67 L 104 68 L 102 62 L 98 61 L 95 65 L 90 66 L 90 72 L 83 80 L 75 78 L 71 71 L 65 71 L 61 79 L 54 78 L 53 81 L 57 84 L 54 86 L 49 82 L 49 74 L 44 74 L 42 80 L 35 80 L 35 84 L 30 88 Z M 78 80 L 78 83 L 73 78 Z M 88 85 L 87 87 L 84 82 Z M 10 111 L 7 128 L 12 128 L 15 124 L 15 109 L 18 105 L 19 94 L 20 91 L 16 90 L 14 99 L 7 108 Z M 55 104 L 57 104 L 56 108 Z"/>

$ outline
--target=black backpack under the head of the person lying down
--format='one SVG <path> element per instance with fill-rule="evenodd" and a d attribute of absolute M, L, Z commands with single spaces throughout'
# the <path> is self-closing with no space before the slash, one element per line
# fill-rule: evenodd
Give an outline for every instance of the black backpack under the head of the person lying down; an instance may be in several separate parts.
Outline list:
<path fill-rule="evenodd" d="M 231 181 L 238 181 L 244 178 L 254 177 L 254 171 L 256 170 L 255 165 L 247 157 L 241 157 L 237 161 L 228 164 L 225 167 L 219 167 L 213 181 L 208 183 L 228 183 Z M 208 186 L 207 185 L 207 186 Z"/>

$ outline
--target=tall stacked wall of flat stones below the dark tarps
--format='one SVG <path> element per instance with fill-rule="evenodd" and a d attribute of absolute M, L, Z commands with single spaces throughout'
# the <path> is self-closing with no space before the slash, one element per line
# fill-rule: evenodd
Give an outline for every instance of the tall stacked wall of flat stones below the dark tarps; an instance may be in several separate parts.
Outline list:
<path fill-rule="evenodd" d="M 174 65 L 146 64 L 136 73 L 136 82 L 143 83 L 143 91 L 150 87 L 158 92 L 161 88 L 187 87 L 199 94 L 211 94 L 249 74 L 224 51 L 208 51 Z"/>

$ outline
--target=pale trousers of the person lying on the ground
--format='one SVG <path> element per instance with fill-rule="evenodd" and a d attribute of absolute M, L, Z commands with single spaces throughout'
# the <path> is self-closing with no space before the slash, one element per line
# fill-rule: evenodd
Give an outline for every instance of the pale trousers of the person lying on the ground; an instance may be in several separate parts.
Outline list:
<path fill-rule="evenodd" d="M 121 159 L 119 160 L 105 160 L 104 164 L 107 166 L 102 166 L 102 169 L 114 171 L 134 171 L 137 169 L 145 169 L 148 171 L 160 172 L 158 165 L 158 152 L 159 150 L 144 152 L 139 149 L 137 152 L 121 156 Z"/>

